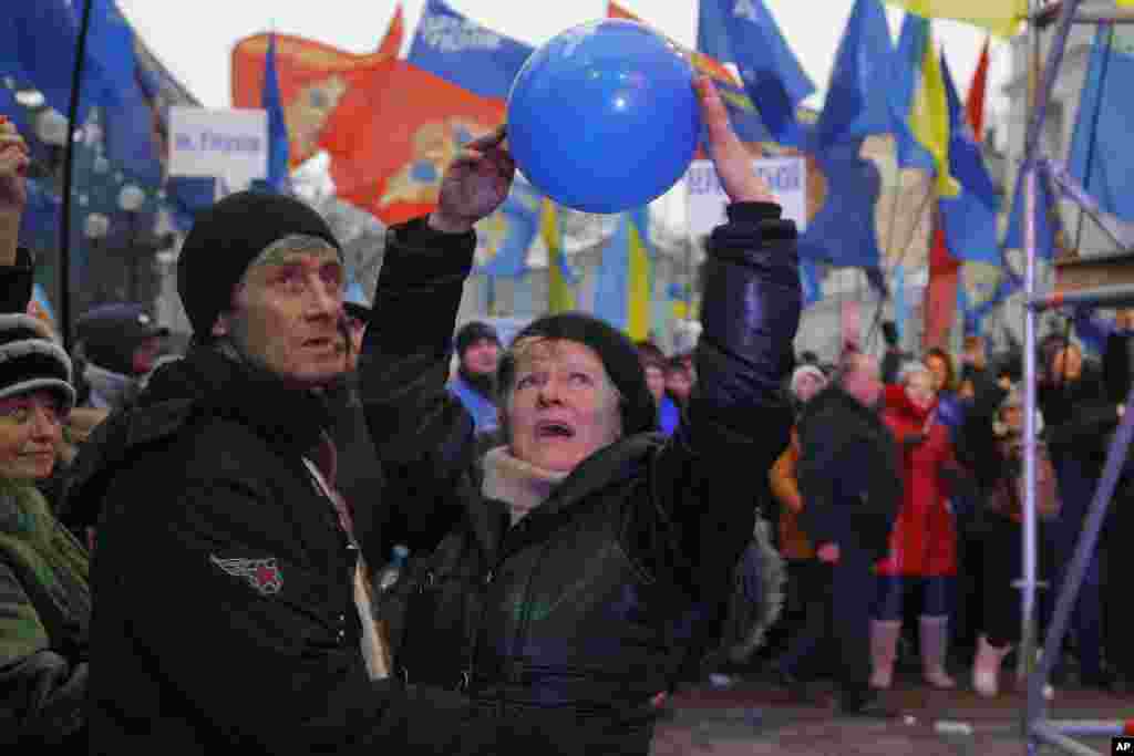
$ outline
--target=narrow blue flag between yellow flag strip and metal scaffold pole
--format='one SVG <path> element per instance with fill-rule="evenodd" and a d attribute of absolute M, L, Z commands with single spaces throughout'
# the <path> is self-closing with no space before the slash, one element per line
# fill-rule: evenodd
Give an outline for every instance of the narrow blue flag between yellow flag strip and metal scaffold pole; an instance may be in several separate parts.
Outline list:
<path fill-rule="evenodd" d="M 949 102 L 949 173 L 960 185 L 955 197 L 941 197 L 939 207 L 949 253 L 957 260 L 1000 262 L 997 246 L 997 213 L 1000 199 L 984 167 L 980 145 L 960 105 L 949 66 L 941 56 L 941 73 Z"/>

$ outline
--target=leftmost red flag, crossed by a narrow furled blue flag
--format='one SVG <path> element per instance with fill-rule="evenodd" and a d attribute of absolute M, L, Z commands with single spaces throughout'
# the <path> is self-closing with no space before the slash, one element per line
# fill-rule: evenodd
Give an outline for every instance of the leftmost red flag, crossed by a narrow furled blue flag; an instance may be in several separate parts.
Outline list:
<path fill-rule="evenodd" d="M 340 105 L 357 99 L 356 91 L 384 85 L 388 63 L 401 48 L 404 26 L 399 5 L 378 51 L 366 54 L 298 36 L 276 35 L 276 70 L 293 167 L 315 154 L 331 117 Z M 256 34 L 232 48 L 234 108 L 261 107 L 268 37 Z"/>

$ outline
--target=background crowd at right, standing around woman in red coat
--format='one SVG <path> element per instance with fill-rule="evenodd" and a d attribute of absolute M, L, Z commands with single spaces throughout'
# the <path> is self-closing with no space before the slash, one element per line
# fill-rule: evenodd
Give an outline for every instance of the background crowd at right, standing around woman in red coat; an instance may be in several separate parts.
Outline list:
<path fill-rule="evenodd" d="M 1074 314 L 1083 345 L 1101 351 L 1097 359 L 1084 358 L 1070 329 L 1048 334 L 1038 348 L 1035 502 L 1044 589 L 1033 621 L 1040 634 L 1124 413 L 1128 323 L 1125 312 L 1114 320 Z M 956 660 L 971 662 L 973 689 L 992 697 L 1022 634 L 1023 356 L 1017 349 L 990 359 L 983 339 L 968 337 L 958 372 L 947 350 L 931 348 L 917 359 L 898 348 L 891 323 L 883 333 L 881 359 L 854 345 L 837 365 L 805 355 L 788 383 L 796 431 L 771 470 L 770 489 L 796 609 L 787 612 L 787 640 L 773 649 L 770 671 L 813 697 L 809 681 L 838 669 L 844 688 L 888 689 L 899 660 L 917 656 L 924 685 L 954 688 L 948 668 Z M 1132 483 L 1124 473 L 1110 502 L 1055 685 L 1131 694 L 1125 634 L 1134 626 L 1122 575 L 1131 567 L 1123 538 L 1132 533 Z M 848 545 L 868 554 L 848 563 Z M 840 585 L 840 572 L 854 572 L 857 581 L 846 577 Z M 844 647 L 832 665 L 839 646 L 820 643 L 863 635 L 870 656 L 862 663 Z M 1052 685 L 1046 695 L 1055 695 Z"/>

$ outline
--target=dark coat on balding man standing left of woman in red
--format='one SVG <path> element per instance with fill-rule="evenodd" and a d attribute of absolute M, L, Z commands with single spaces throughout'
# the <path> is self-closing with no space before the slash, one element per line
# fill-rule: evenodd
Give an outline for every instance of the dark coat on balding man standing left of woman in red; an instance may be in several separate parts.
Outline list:
<path fill-rule="evenodd" d="M 812 397 L 798 430 L 799 519 L 811 542 L 854 543 L 878 559 L 902 501 L 890 431 L 875 409 L 839 387 Z"/>

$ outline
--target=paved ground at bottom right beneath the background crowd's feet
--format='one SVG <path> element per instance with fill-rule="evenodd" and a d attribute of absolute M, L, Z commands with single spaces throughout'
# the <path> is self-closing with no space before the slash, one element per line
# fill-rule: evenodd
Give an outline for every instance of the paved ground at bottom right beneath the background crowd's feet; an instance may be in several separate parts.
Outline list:
<path fill-rule="evenodd" d="M 1006 671 L 1007 672 L 1007 671 Z M 1005 673 L 1005 681 L 1009 674 Z M 958 682 L 967 679 L 958 676 Z M 685 754 L 713 756 L 1021 756 L 1027 753 L 1021 737 L 1023 696 L 1013 691 L 988 700 L 965 685 L 957 690 L 929 690 L 914 677 L 896 681 L 890 700 L 903 716 L 889 722 L 837 716 L 832 704 L 799 704 L 775 686 L 737 682 L 730 688 L 704 685 L 675 697 L 675 716 L 658 729 L 654 756 Z M 1134 717 L 1134 697 L 1097 690 L 1057 693 L 1049 708 L 1055 720 L 1098 721 Z M 963 722 L 967 734 L 939 733 L 939 722 Z M 1084 745 L 1110 754 L 1107 739 Z M 1064 751 L 1041 747 L 1036 754 Z"/>

